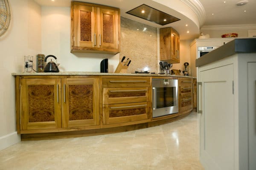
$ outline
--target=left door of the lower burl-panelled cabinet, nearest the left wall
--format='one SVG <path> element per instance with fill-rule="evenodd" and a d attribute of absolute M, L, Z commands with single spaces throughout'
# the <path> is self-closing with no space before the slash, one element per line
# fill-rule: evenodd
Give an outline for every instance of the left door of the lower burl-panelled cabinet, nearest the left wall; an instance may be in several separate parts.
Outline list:
<path fill-rule="evenodd" d="M 61 128 L 61 79 L 20 79 L 20 129 Z"/>

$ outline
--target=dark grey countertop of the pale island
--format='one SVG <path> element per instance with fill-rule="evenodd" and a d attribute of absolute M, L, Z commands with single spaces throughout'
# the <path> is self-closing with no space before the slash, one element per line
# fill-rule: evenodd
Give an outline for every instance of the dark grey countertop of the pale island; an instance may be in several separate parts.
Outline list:
<path fill-rule="evenodd" d="M 256 38 L 237 38 L 195 60 L 200 67 L 237 53 L 256 53 Z"/>

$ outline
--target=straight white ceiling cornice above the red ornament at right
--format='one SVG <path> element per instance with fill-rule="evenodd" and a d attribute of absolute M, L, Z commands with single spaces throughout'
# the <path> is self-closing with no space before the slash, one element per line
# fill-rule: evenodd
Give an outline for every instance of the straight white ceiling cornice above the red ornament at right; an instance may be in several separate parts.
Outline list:
<path fill-rule="evenodd" d="M 218 26 L 203 26 L 201 31 L 213 31 L 213 30 L 251 30 L 256 29 L 256 24 L 239 24 L 239 25 L 218 25 Z"/>

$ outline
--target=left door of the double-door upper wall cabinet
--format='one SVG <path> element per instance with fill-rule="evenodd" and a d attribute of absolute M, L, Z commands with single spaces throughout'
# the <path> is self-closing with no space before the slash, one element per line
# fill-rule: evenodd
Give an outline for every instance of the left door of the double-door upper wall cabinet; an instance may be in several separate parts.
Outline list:
<path fill-rule="evenodd" d="M 97 8 L 74 5 L 74 45 L 96 47 Z"/>

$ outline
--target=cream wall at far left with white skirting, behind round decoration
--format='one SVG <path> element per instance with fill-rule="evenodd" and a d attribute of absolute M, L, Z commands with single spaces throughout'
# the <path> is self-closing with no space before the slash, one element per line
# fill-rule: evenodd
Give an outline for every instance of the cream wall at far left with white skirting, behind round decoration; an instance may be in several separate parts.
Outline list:
<path fill-rule="evenodd" d="M 16 132 L 15 78 L 24 55 L 41 52 L 41 8 L 33 0 L 9 0 L 11 23 L 0 37 L 0 150 L 20 141 Z"/>

